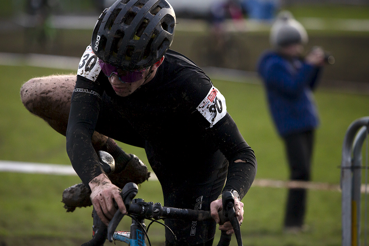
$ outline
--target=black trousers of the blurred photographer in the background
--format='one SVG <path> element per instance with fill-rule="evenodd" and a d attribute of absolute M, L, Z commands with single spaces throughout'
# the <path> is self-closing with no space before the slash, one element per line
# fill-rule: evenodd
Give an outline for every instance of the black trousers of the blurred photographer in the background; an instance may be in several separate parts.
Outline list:
<path fill-rule="evenodd" d="M 286 145 L 291 180 L 310 180 L 311 155 L 314 130 L 283 137 Z M 292 188 L 288 191 L 284 226 L 302 226 L 306 211 L 306 189 Z"/>

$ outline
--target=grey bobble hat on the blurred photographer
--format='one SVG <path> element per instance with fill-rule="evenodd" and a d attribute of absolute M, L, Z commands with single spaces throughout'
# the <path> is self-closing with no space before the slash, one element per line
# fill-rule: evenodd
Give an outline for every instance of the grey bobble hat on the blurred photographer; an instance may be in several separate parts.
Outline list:
<path fill-rule="evenodd" d="M 279 48 L 290 44 L 307 44 L 307 42 L 308 36 L 303 25 L 295 20 L 289 11 L 279 13 L 270 30 L 270 44 Z"/>

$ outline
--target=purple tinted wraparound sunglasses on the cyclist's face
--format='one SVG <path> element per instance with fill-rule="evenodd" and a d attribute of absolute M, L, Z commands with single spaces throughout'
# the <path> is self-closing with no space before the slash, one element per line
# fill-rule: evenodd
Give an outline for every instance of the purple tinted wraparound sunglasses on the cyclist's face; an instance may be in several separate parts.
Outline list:
<path fill-rule="evenodd" d="M 145 68 L 143 70 L 134 70 L 134 71 L 124 71 L 122 69 L 118 69 L 113 65 L 103 62 L 99 59 L 99 64 L 101 67 L 101 71 L 103 71 L 104 75 L 111 77 L 113 73 L 118 76 L 119 80 L 122 83 L 132 83 L 144 78 L 144 72 L 148 69 Z M 118 72 L 119 70 L 119 72 Z"/>

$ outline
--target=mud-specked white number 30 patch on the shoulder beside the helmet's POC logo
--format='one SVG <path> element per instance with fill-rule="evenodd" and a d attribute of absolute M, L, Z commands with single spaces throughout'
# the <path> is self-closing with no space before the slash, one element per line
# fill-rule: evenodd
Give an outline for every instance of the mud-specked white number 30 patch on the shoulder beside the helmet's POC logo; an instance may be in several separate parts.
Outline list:
<path fill-rule="evenodd" d="M 99 58 L 92 52 L 91 46 L 87 46 L 85 53 L 78 65 L 77 75 L 83 76 L 86 79 L 95 81 L 100 73 L 100 65 L 97 62 Z"/>

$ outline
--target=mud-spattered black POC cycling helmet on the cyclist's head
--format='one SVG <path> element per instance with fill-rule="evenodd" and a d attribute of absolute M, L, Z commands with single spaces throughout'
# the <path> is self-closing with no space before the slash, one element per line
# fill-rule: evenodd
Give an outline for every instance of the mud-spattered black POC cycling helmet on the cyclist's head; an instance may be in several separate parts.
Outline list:
<path fill-rule="evenodd" d="M 174 10 L 166 0 L 117 0 L 97 19 L 92 50 L 113 66 L 144 69 L 169 49 L 175 23 Z"/>

